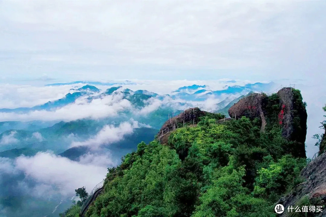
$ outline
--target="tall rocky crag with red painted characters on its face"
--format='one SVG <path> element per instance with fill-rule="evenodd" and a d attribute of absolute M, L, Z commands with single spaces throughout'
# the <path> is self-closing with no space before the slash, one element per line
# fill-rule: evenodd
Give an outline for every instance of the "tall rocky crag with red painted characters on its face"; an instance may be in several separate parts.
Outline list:
<path fill-rule="evenodd" d="M 231 118 L 246 116 L 261 120 L 261 131 L 265 127 L 279 127 L 282 136 L 292 141 L 293 156 L 306 157 L 305 137 L 307 133 L 307 112 L 301 93 L 293 88 L 282 88 L 272 96 L 251 94 L 242 98 L 229 109 Z"/>

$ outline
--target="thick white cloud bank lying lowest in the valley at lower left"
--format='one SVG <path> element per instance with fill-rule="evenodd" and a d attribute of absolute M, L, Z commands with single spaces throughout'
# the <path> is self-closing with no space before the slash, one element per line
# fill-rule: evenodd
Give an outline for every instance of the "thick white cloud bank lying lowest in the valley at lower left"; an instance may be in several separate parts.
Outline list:
<path fill-rule="evenodd" d="M 83 164 L 50 152 L 39 152 L 32 157 L 17 157 L 15 168 L 23 171 L 29 179 L 55 185 L 62 195 L 71 195 L 80 186 L 91 191 L 107 173 L 105 166 Z"/>

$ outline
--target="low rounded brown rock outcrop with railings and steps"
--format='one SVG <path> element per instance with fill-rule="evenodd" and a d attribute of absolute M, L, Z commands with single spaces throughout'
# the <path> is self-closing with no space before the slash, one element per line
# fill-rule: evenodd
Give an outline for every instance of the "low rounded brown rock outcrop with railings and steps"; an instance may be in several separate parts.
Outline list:
<path fill-rule="evenodd" d="M 180 113 L 179 115 L 172 117 L 171 120 L 167 120 L 162 128 L 160 129 L 160 131 L 157 134 L 157 137 L 161 137 L 162 136 L 162 131 L 163 134 L 168 132 L 168 128 L 169 131 L 172 130 L 175 126 L 175 128 L 178 128 L 183 126 L 183 123 L 185 121 L 185 124 L 189 125 L 189 124 L 197 124 L 197 122 L 199 121 L 199 118 L 206 115 L 208 112 L 205 111 L 201 111 L 199 108 L 191 108 L 191 109 L 187 109 L 185 110 L 185 112 Z"/>

